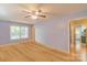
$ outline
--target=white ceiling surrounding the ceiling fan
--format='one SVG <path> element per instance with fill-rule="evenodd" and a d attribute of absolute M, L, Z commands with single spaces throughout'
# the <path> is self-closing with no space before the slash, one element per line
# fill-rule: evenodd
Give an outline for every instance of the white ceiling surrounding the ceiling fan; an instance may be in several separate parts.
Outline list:
<path fill-rule="evenodd" d="M 61 17 L 65 14 L 70 14 L 74 12 L 78 12 L 81 10 L 87 10 L 87 4 L 62 4 L 62 3 L 41 3 L 41 4 L 33 4 L 33 3 L 0 3 L 0 20 L 8 20 L 8 21 L 15 21 L 22 23 L 35 23 L 35 20 L 31 18 L 24 18 L 28 13 L 23 12 L 23 10 L 31 11 L 31 10 L 39 10 L 41 9 L 44 12 L 48 12 L 50 15 L 47 20 L 53 17 Z"/>

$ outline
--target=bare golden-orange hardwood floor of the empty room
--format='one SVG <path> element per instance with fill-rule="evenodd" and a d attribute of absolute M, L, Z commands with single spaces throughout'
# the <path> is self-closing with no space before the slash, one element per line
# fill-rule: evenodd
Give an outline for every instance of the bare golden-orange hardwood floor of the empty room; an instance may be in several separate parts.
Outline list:
<path fill-rule="evenodd" d="M 20 43 L 0 46 L 0 62 L 63 62 L 70 55 L 37 43 Z"/>

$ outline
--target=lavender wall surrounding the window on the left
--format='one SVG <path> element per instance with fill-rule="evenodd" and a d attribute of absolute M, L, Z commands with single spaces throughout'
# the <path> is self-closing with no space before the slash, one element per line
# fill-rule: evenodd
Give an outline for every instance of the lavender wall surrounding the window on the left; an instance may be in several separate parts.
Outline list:
<path fill-rule="evenodd" d="M 26 25 L 29 26 L 29 39 L 31 39 L 31 25 L 14 23 L 10 21 L 0 21 L 0 44 L 8 44 L 18 42 L 18 40 L 10 40 L 10 25 Z"/>

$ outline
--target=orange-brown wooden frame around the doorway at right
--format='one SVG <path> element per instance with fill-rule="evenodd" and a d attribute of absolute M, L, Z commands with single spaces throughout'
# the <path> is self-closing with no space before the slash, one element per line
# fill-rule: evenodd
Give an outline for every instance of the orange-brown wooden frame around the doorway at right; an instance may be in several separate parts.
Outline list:
<path fill-rule="evenodd" d="M 87 19 L 78 19 L 78 20 L 73 20 L 69 22 L 69 52 L 72 56 L 76 56 L 76 51 L 75 51 L 75 28 L 77 25 L 86 25 L 87 26 Z M 87 45 L 86 45 L 87 47 Z"/>

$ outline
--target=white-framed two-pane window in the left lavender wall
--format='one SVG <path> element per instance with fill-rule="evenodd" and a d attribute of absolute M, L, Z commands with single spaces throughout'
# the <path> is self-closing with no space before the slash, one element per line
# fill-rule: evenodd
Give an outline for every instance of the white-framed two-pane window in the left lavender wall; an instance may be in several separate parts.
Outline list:
<path fill-rule="evenodd" d="M 10 26 L 10 39 L 28 39 L 29 37 L 29 28 L 28 26 Z"/>

